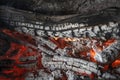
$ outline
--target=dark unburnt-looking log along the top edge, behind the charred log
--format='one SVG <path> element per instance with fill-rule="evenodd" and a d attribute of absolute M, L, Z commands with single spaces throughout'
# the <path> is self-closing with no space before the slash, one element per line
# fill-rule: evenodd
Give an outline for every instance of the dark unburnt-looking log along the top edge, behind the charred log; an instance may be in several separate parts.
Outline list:
<path fill-rule="evenodd" d="M 93 14 L 109 7 L 120 7 L 119 0 L 1 0 L 0 5 L 47 15 Z"/>

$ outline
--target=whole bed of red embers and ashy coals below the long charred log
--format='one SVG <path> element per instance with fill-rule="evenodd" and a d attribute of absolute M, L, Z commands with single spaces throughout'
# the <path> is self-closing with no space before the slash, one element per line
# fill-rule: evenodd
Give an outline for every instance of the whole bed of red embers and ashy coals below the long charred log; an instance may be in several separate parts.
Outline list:
<path fill-rule="evenodd" d="M 115 39 L 100 41 L 89 38 L 32 38 L 7 29 L 1 30 L 1 35 L 5 36 L 4 39 L 10 38 L 10 44 L 4 55 L 0 56 L 2 68 L 0 74 L 4 74 L 0 76 L 0 80 L 25 80 L 28 75 L 32 78 L 32 74 L 33 78 L 40 75 L 46 80 L 47 77 L 67 80 L 73 73 L 74 76 L 88 76 L 95 79 L 110 75 L 111 73 L 105 73 L 105 71 L 111 70 L 111 67 L 120 67 L 119 56 L 117 58 L 116 55 L 109 63 L 99 62 L 100 59 L 101 61 L 104 58 L 107 59 L 102 55 L 103 52 L 108 51 L 109 47 L 111 52 L 115 50 L 111 48 L 112 46 L 119 48 Z M 4 39 L 0 39 L 3 42 L 0 47 L 6 45 L 7 40 L 4 41 Z M 114 52 L 118 53 L 116 50 Z M 113 54 L 109 56 L 111 55 Z"/>

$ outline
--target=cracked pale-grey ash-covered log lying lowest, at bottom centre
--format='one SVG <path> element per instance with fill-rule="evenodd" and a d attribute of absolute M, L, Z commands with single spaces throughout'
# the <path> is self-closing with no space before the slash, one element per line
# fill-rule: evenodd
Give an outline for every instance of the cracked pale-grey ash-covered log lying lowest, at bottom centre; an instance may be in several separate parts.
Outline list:
<path fill-rule="evenodd" d="M 91 75 L 92 73 L 95 73 L 97 75 L 101 75 L 99 70 L 100 66 L 83 59 L 75 59 L 64 56 L 53 56 L 53 58 L 49 56 L 43 56 L 42 63 L 44 67 L 50 70 L 63 69 L 72 70 L 80 74 Z"/>

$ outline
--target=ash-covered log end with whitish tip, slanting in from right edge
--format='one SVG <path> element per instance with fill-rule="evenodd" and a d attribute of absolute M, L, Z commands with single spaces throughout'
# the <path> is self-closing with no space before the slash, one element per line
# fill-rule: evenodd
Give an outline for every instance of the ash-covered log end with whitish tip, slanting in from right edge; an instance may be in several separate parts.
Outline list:
<path fill-rule="evenodd" d="M 120 41 L 116 41 L 101 53 L 96 53 L 95 59 L 103 64 L 110 64 L 120 57 Z"/>

